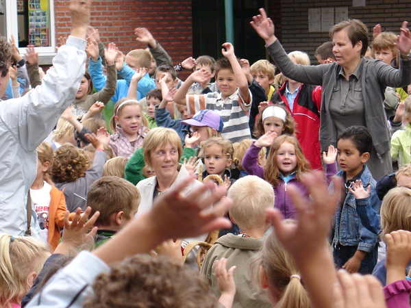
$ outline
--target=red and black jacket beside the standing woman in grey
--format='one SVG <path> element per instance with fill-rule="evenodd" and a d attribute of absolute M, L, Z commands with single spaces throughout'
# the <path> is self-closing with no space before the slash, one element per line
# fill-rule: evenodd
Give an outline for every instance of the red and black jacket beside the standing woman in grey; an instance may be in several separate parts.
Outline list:
<path fill-rule="evenodd" d="M 301 84 L 292 110 L 286 100 L 284 85 L 273 94 L 272 103 L 285 105 L 297 123 L 297 139 L 301 144 L 303 154 L 310 162 L 312 170 L 321 170 L 321 146 L 319 141 L 321 86 Z"/>

